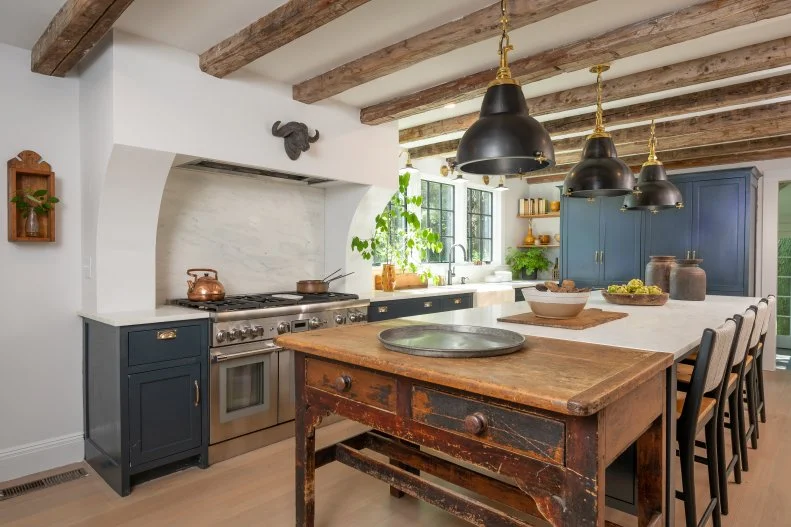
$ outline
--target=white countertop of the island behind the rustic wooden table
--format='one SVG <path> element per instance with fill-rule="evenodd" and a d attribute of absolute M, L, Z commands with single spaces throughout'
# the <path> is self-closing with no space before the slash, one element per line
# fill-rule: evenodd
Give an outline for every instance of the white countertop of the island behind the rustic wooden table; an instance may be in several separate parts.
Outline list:
<path fill-rule="evenodd" d="M 629 313 L 628 317 L 583 330 L 548 328 L 498 322 L 499 317 L 527 313 L 527 302 L 500 304 L 432 315 L 409 317 L 435 324 L 463 324 L 508 329 L 522 335 L 573 340 L 683 357 L 700 344 L 703 330 L 715 328 L 726 318 L 743 313 L 759 298 L 709 295 L 703 302 L 669 300 L 661 307 L 618 306 L 607 303 L 600 292 L 591 293 L 587 307 Z"/>

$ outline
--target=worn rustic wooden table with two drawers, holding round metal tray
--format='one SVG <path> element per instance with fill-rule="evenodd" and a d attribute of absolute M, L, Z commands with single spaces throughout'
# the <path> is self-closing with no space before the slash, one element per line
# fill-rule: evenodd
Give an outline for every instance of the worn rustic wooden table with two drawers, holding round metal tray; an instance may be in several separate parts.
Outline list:
<path fill-rule="evenodd" d="M 638 524 L 664 521 L 672 355 L 543 337 L 529 337 L 517 353 L 480 359 L 417 357 L 379 344 L 380 331 L 409 323 L 278 338 L 297 351 L 298 526 L 314 524 L 315 470 L 333 461 L 389 483 L 394 496 L 415 496 L 476 525 L 528 526 L 542 518 L 553 526 L 604 526 L 605 469 L 635 442 Z M 316 451 L 316 426 L 329 414 L 373 430 Z"/>

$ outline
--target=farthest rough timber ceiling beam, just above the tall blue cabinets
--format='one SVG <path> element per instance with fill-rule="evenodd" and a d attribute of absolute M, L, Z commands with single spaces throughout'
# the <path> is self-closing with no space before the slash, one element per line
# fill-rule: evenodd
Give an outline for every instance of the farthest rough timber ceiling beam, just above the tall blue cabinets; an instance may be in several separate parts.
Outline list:
<path fill-rule="evenodd" d="M 773 157 L 762 157 L 769 155 Z M 708 163 L 708 160 L 711 159 L 717 161 L 715 164 L 723 164 L 722 159 L 724 158 L 735 159 L 734 161 L 725 161 L 726 163 L 736 163 L 741 161 L 753 161 L 756 159 L 791 157 L 791 135 L 779 135 L 762 139 L 751 139 L 749 141 L 736 141 L 677 150 L 660 149 L 658 157 L 668 169 L 683 168 L 684 166 L 698 162 Z M 637 172 L 640 170 L 646 156 L 633 155 L 625 156 L 621 159 L 623 159 L 632 170 Z M 545 171 L 535 172 L 529 177 L 526 177 L 525 181 L 528 183 L 563 181 L 566 173 L 568 173 L 573 166 L 573 163 L 557 165 Z"/>

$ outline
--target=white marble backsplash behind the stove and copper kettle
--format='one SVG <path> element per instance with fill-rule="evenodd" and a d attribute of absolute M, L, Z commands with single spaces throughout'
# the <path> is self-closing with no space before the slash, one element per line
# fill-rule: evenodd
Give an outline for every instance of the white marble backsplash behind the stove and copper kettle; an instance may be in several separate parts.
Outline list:
<path fill-rule="evenodd" d="M 187 295 L 186 270 L 217 269 L 228 294 L 293 290 L 324 273 L 324 190 L 171 171 L 157 228 L 157 300 Z"/>

